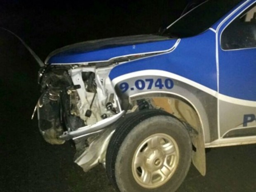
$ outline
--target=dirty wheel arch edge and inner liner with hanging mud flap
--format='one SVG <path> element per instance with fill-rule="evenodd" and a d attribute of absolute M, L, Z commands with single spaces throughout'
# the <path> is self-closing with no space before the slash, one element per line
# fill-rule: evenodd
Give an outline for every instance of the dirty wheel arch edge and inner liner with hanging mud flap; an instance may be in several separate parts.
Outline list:
<path fill-rule="evenodd" d="M 132 95 L 123 102 L 131 104 L 141 99 L 150 100 L 154 109 L 162 109 L 183 122 L 195 147 L 192 162 L 201 175 L 205 175 L 205 132 L 207 132 L 206 134 L 210 133 L 209 130 L 204 129 L 203 117 L 200 113 L 202 109 L 198 109 L 186 97 L 171 92 L 143 92 L 142 94 Z"/>

